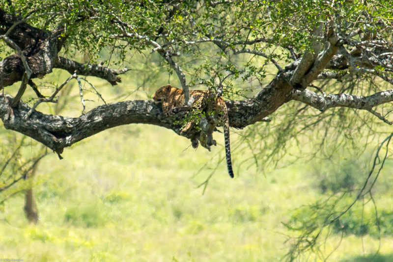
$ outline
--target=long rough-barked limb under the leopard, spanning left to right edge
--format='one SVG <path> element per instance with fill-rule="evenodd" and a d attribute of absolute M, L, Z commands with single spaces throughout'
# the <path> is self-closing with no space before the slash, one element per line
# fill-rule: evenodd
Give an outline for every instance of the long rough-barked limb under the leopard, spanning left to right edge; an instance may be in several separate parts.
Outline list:
<path fill-rule="evenodd" d="M 259 121 L 268 121 L 267 115 L 289 100 L 311 105 L 321 111 L 344 106 L 372 111 L 372 107 L 393 101 L 393 89 L 368 97 L 356 95 L 317 95 L 309 90 L 293 90 L 284 80 L 289 73 L 279 74 L 266 88 L 252 99 L 226 101 L 231 127 L 244 128 Z M 78 118 L 46 115 L 25 103 L 11 108 L 12 97 L 0 96 L 0 118 L 6 129 L 18 131 L 61 153 L 63 148 L 106 129 L 132 123 L 162 126 L 180 133 L 174 118 L 168 118 L 152 101 L 125 101 L 101 105 Z M 32 113 L 30 112 L 32 111 Z M 31 113 L 26 119 L 24 116 Z M 181 118 L 182 115 L 178 116 Z M 386 121 L 385 121 L 386 122 Z M 190 134 L 187 134 L 187 137 Z"/>

